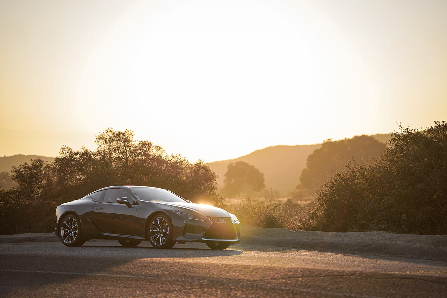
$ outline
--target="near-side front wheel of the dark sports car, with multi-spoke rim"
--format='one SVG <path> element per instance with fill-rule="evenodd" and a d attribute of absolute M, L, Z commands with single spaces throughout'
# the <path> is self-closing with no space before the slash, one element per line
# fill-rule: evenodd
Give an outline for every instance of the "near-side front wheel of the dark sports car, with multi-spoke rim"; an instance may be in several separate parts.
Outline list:
<path fill-rule="evenodd" d="M 148 227 L 149 242 L 154 248 L 172 248 L 175 244 L 171 218 L 166 214 L 156 214 Z"/>

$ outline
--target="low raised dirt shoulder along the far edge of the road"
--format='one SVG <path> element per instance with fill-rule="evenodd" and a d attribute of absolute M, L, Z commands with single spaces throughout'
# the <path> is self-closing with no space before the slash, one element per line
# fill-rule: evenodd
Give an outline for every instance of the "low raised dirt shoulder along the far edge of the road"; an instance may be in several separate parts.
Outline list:
<path fill-rule="evenodd" d="M 58 241 L 54 233 L 0 235 L 0 243 Z M 447 235 L 335 233 L 243 226 L 240 245 L 447 261 Z"/>

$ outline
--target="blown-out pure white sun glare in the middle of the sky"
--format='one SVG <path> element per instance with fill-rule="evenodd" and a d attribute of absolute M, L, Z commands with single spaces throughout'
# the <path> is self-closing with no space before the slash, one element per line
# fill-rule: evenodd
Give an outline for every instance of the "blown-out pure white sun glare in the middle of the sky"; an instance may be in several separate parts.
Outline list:
<path fill-rule="evenodd" d="M 170 151 L 178 143 L 190 147 L 187 151 L 195 147 L 190 159 L 212 159 L 210 150 L 223 158 L 240 155 L 240 147 L 223 145 L 222 139 L 246 153 L 287 143 L 290 133 L 276 124 L 298 130 L 316 115 L 333 118 L 340 108 L 350 113 L 361 104 L 358 98 L 374 95 L 349 44 L 309 5 L 141 3 L 123 14 L 88 61 L 75 109 L 96 105 L 111 116 L 96 126 L 131 127 Z M 98 89 L 101 85 L 109 88 Z M 347 101 L 342 107 L 339 97 Z M 124 105 L 131 109 L 127 115 Z M 87 128 L 95 120 L 85 117 Z M 157 134 L 160 130 L 175 141 Z M 201 142 L 215 134 L 221 138 Z M 305 134 L 310 143 L 320 141 Z"/>

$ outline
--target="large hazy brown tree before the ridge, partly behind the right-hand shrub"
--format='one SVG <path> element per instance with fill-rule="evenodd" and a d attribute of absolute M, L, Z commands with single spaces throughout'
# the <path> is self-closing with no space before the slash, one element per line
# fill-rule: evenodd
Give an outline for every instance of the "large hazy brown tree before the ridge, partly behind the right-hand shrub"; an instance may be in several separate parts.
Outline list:
<path fill-rule="evenodd" d="M 325 141 L 308 156 L 301 172 L 300 188 L 318 190 L 331 176 L 341 172 L 348 162 L 364 164 L 374 161 L 386 150 L 386 145 L 371 136 L 361 135 L 340 141 Z"/>

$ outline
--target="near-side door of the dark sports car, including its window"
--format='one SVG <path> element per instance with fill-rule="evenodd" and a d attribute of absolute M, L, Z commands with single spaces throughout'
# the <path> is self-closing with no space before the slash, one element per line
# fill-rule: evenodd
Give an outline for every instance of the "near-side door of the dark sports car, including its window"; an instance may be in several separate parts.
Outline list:
<path fill-rule="evenodd" d="M 137 205 L 127 205 L 117 203 L 118 198 L 133 197 L 125 189 L 107 189 L 102 201 L 93 206 L 95 216 L 93 224 L 103 234 L 114 235 L 136 235 L 136 212 Z"/>

